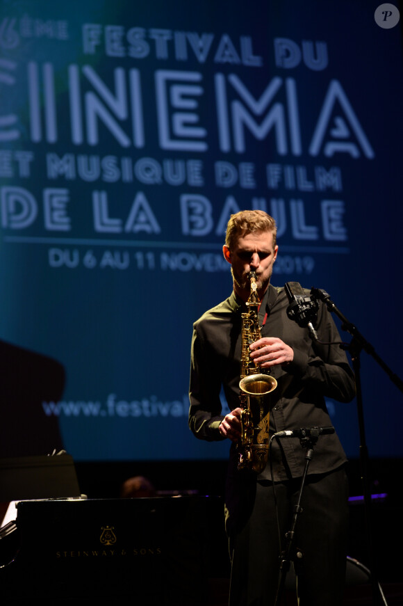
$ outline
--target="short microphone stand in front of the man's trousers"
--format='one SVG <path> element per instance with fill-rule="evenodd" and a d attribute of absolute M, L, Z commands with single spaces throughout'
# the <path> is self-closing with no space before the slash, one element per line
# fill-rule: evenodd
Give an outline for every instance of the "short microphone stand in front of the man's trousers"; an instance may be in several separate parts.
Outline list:
<path fill-rule="evenodd" d="M 294 559 L 294 557 L 291 556 L 291 553 L 292 553 L 292 549 L 293 549 L 293 540 L 294 540 L 294 536 L 295 536 L 295 527 L 297 526 L 298 516 L 299 516 L 299 513 L 302 513 L 302 507 L 301 507 L 302 491 L 304 490 L 305 479 L 306 479 L 306 475 L 308 473 L 309 463 L 311 463 L 311 459 L 313 457 L 313 446 L 316 444 L 316 442 L 318 442 L 319 436 L 320 436 L 320 429 L 318 428 L 318 431 L 313 429 L 313 430 L 311 430 L 309 436 L 302 437 L 299 440 L 299 442 L 301 442 L 301 446 L 306 449 L 306 454 L 305 454 L 306 463 L 305 463 L 305 468 L 304 468 L 304 474 L 302 475 L 301 486 L 299 487 L 297 504 L 294 507 L 294 515 L 293 515 L 293 520 L 291 523 L 291 529 L 290 529 L 290 531 L 288 531 L 286 533 L 286 548 L 281 552 L 279 585 L 277 587 L 277 595 L 276 595 L 276 601 L 274 602 L 274 606 L 277 606 L 280 603 L 280 599 L 281 599 L 281 596 L 283 594 L 283 590 L 284 590 L 284 587 L 286 584 L 286 576 L 287 576 L 288 571 L 290 570 L 290 563 L 291 563 L 291 560 Z M 296 552 L 296 556 L 302 557 L 302 554 L 300 552 Z"/>

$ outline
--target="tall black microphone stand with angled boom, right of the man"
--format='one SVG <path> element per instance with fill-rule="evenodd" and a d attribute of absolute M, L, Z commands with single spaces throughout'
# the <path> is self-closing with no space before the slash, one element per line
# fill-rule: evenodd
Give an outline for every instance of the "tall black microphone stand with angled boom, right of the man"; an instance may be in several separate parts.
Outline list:
<path fill-rule="evenodd" d="M 349 351 L 350 356 L 352 358 L 352 365 L 354 369 L 354 375 L 356 380 L 356 403 L 357 403 L 357 415 L 359 422 L 359 436 L 360 436 L 360 447 L 359 447 L 359 458 L 361 463 L 361 481 L 363 484 L 363 497 L 364 497 L 364 515 L 365 515 L 365 534 L 367 540 L 367 548 L 368 548 L 368 557 L 370 564 L 370 573 L 371 573 L 371 584 L 372 584 L 372 596 L 374 598 L 374 603 L 377 605 L 385 605 L 386 602 L 384 600 L 384 596 L 381 593 L 381 589 L 379 586 L 379 582 L 377 580 L 377 563 L 374 557 L 374 550 L 372 546 L 372 531 L 371 531 L 371 492 L 370 492 L 370 482 L 368 475 L 368 448 L 365 440 L 365 425 L 364 425 L 364 413 L 363 413 L 363 396 L 361 391 L 361 360 L 360 353 L 362 350 L 375 359 L 375 361 L 379 364 L 379 366 L 388 374 L 389 378 L 397 388 L 403 392 L 403 381 L 392 372 L 392 370 L 385 364 L 384 360 L 382 360 L 377 353 L 375 352 L 374 347 L 364 339 L 363 335 L 359 332 L 359 330 L 347 320 L 347 318 L 338 310 L 336 305 L 327 292 L 322 289 L 312 288 L 311 294 L 315 298 L 319 298 L 321 301 L 326 303 L 329 311 L 334 312 L 336 316 L 342 322 L 342 329 L 347 330 L 347 332 L 352 335 L 352 342 L 350 344 L 345 344 L 343 349 L 347 349 Z"/>

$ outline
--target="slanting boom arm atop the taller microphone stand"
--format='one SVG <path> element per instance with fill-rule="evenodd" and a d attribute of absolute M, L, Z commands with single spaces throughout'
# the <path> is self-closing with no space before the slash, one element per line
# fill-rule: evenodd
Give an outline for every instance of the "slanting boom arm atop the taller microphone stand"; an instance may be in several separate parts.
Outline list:
<path fill-rule="evenodd" d="M 341 327 L 343 328 L 343 330 L 347 330 L 347 333 L 352 335 L 352 342 L 344 348 L 347 349 L 349 353 L 351 353 L 352 359 L 354 360 L 358 358 L 359 353 L 363 349 L 364 351 L 369 353 L 372 358 L 374 358 L 374 360 L 377 362 L 377 364 L 379 364 L 381 369 L 386 372 L 386 374 L 390 378 L 390 381 L 392 381 L 396 385 L 396 387 L 403 393 L 402 379 L 397 376 L 397 374 L 395 374 L 392 369 L 388 367 L 388 365 L 386 365 L 386 363 L 384 362 L 384 360 L 382 360 L 380 356 L 378 356 L 374 347 L 367 340 L 365 340 L 363 335 L 361 335 L 361 333 L 359 332 L 358 328 L 356 328 L 356 326 L 352 324 L 352 322 L 347 320 L 345 315 L 340 312 L 340 310 L 336 307 L 335 303 L 331 301 L 329 294 L 327 294 L 326 291 L 320 288 L 311 288 L 311 294 L 315 298 L 320 299 L 320 301 L 323 301 L 323 303 L 327 305 L 328 310 L 334 312 L 336 316 L 340 318 L 342 323 Z"/>

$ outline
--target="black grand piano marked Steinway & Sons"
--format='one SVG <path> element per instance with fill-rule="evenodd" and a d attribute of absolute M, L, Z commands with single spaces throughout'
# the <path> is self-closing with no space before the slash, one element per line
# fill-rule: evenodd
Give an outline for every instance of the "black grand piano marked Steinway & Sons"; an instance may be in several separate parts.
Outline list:
<path fill-rule="evenodd" d="M 22 500 L 0 539 L 1 604 L 213 604 L 223 525 L 220 497 Z"/>

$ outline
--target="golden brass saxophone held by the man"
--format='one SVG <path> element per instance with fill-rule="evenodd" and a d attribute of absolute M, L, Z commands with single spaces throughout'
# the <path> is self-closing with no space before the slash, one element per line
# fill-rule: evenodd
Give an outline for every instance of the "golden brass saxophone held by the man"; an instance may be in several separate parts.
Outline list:
<path fill-rule="evenodd" d="M 249 345 L 261 338 L 258 323 L 259 299 L 256 273 L 248 274 L 251 292 L 246 302 L 247 312 L 241 314 L 241 374 L 240 408 L 241 437 L 238 444 L 238 470 L 251 469 L 261 473 L 269 454 L 269 399 L 268 394 L 277 388 L 273 376 L 265 374 L 251 360 Z"/>

